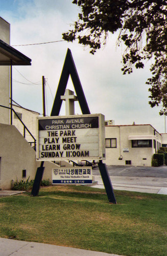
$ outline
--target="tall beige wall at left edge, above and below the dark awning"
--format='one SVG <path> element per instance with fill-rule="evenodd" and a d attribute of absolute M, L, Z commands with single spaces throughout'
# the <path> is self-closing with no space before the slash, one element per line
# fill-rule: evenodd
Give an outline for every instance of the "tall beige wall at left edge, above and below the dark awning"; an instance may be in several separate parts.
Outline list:
<path fill-rule="evenodd" d="M 10 24 L 0 17 L 0 39 L 10 45 Z M 0 104 L 9 106 L 10 67 L 0 66 Z M 0 107 L 0 122 L 9 124 L 9 110 Z"/>

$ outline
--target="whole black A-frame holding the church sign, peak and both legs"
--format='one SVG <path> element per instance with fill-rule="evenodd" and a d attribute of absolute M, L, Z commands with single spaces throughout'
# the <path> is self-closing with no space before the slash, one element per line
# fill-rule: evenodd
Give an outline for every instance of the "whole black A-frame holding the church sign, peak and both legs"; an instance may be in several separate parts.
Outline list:
<path fill-rule="evenodd" d="M 64 93 L 65 93 L 69 75 L 71 76 L 71 80 L 73 81 L 74 88 L 76 91 L 76 95 L 78 97 L 78 101 L 79 101 L 79 104 L 81 107 L 82 114 L 90 114 L 88 104 L 87 104 L 87 101 L 86 101 L 86 98 L 85 98 L 85 95 L 84 95 L 84 92 L 82 89 L 82 85 L 81 85 L 81 82 L 80 82 L 80 79 L 79 79 L 79 76 L 77 73 L 77 69 L 75 66 L 73 56 L 71 54 L 71 51 L 68 49 L 66 57 L 65 57 L 64 66 L 62 69 L 58 89 L 56 92 L 55 100 L 53 103 L 51 116 L 58 116 L 60 113 L 61 104 L 62 104 L 61 96 L 64 95 Z M 113 188 L 112 188 L 112 184 L 111 184 L 110 177 L 108 174 L 107 166 L 106 166 L 106 164 L 103 163 L 102 160 L 99 161 L 98 166 L 99 166 L 102 180 L 103 180 L 103 183 L 104 183 L 104 186 L 106 189 L 108 200 L 110 203 L 116 204 L 116 199 L 115 199 L 115 196 L 113 193 Z M 37 168 L 32 192 L 31 192 L 32 196 L 37 196 L 39 193 L 39 187 L 40 187 L 40 182 L 42 180 L 43 172 L 44 172 L 44 167 L 43 167 L 43 162 L 41 162 L 41 166 Z"/>

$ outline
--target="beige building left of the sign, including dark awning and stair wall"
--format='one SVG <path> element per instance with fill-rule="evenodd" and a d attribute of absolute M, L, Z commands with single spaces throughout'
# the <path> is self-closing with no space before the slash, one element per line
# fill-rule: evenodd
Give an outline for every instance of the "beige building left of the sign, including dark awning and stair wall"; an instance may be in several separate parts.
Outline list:
<path fill-rule="evenodd" d="M 24 129 L 18 117 L 25 122 L 29 132 L 36 134 L 36 116 L 39 113 L 13 106 L 13 125 L 10 105 L 10 68 L 12 65 L 31 65 L 31 59 L 10 47 L 10 24 L 0 17 L 0 189 L 10 189 L 12 181 L 35 178 L 40 162 L 36 161 L 34 140 Z M 12 60 L 11 60 L 12 59 Z M 21 109 L 21 112 L 20 112 Z M 34 138 L 36 139 L 36 138 Z M 31 142 L 31 143 L 30 143 Z M 43 179 L 52 180 L 52 162 L 44 163 Z"/>

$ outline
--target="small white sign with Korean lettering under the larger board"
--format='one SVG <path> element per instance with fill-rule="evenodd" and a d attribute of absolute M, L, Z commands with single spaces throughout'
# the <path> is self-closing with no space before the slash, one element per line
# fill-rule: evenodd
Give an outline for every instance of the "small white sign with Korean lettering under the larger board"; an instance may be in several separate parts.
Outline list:
<path fill-rule="evenodd" d="M 92 167 L 75 166 L 73 168 L 54 168 L 53 184 L 92 184 Z"/>

